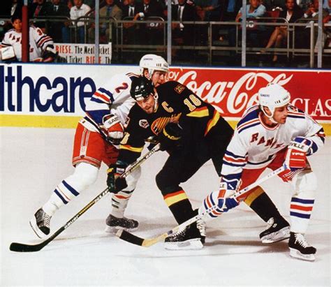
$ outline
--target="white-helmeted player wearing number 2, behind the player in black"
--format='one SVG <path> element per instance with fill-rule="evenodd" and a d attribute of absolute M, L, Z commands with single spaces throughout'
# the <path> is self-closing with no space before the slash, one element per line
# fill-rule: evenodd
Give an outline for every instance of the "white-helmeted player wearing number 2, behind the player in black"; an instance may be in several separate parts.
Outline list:
<path fill-rule="evenodd" d="M 168 63 L 160 56 L 146 54 L 140 60 L 140 71 L 157 87 L 168 78 Z M 54 189 L 50 199 L 30 221 L 38 237 L 50 233 L 50 219 L 57 209 L 96 181 L 102 162 L 109 166 L 117 161 L 119 142 L 124 136 L 123 125 L 135 103 L 130 88 L 136 77 L 138 75 L 133 73 L 114 75 L 91 96 L 86 115 L 80 119 L 75 131 L 72 161 L 75 171 Z M 139 176 L 140 169 L 137 168 L 128 175 L 128 186 L 112 196 L 112 212 L 106 219 L 106 231 L 138 228 L 138 221 L 124 217 L 124 211 Z"/>

